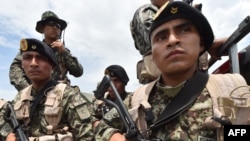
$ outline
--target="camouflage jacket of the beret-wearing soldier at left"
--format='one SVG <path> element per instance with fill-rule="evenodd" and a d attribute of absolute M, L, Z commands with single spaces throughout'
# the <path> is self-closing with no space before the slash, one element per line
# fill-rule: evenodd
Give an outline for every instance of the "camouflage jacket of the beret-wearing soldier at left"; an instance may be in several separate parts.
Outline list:
<path fill-rule="evenodd" d="M 52 89 L 53 90 L 53 89 Z M 48 90 L 48 92 L 52 91 Z M 22 90 L 23 91 L 23 90 Z M 21 92 L 20 91 L 15 99 L 13 100 L 13 106 L 16 103 L 21 102 Z M 39 92 L 31 89 L 30 103 L 39 94 Z M 33 100 L 32 100 L 33 99 Z M 38 103 L 36 110 L 30 118 L 30 122 L 24 126 L 24 132 L 28 137 L 40 137 L 47 135 L 48 122 L 46 120 L 44 110 L 45 110 L 45 99 L 42 99 Z M 22 102 L 23 103 L 23 102 Z M 77 141 L 93 141 L 93 131 L 92 122 L 95 121 L 92 115 L 92 108 L 90 103 L 86 101 L 86 98 L 80 94 L 79 90 L 75 90 L 73 87 L 66 86 L 62 97 L 62 115 L 61 120 L 58 123 L 58 129 L 63 127 L 68 127 L 69 132 L 73 134 L 74 140 Z M 16 108 L 15 108 L 16 111 Z M 3 110 L 4 112 L 4 110 Z M 1 117 L 0 117 L 1 118 Z M 18 120 L 20 125 L 24 125 L 27 118 L 23 120 Z M 61 130 L 60 130 L 61 131 Z M 10 124 L 4 120 L 0 122 L 0 136 L 1 138 L 6 138 L 8 133 L 12 132 L 12 127 Z"/>

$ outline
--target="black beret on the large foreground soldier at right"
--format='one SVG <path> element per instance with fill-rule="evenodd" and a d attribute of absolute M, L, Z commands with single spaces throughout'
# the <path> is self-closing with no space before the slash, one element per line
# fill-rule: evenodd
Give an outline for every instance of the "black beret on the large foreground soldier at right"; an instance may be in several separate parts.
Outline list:
<path fill-rule="evenodd" d="M 149 32 L 149 38 L 151 36 L 151 33 L 158 26 L 170 20 L 179 18 L 190 20 L 196 26 L 200 36 L 203 38 L 205 46 L 205 50 L 203 52 L 208 50 L 214 41 L 213 30 L 209 22 L 197 8 L 181 1 L 167 2 L 158 10 Z"/>

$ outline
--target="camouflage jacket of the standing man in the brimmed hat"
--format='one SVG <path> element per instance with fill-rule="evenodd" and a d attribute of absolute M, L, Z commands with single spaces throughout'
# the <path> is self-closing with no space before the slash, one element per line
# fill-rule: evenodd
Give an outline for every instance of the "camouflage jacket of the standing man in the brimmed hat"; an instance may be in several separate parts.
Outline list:
<path fill-rule="evenodd" d="M 59 54 L 57 51 L 54 52 L 58 66 L 53 71 L 52 79 L 61 80 L 69 84 L 70 80 L 67 77 L 68 72 L 75 77 L 80 77 L 83 74 L 82 65 L 76 57 L 72 56 L 69 49 L 65 48 L 65 52 L 62 54 Z M 20 52 L 10 65 L 9 78 L 10 83 L 14 85 L 18 91 L 30 85 L 30 81 L 22 69 L 22 55 Z"/>

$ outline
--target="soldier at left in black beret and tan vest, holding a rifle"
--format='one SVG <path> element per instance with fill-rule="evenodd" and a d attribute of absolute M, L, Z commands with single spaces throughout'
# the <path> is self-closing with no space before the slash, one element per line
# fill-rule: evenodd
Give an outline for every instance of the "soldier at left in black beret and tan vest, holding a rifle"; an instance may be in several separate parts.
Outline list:
<path fill-rule="evenodd" d="M 11 106 L 18 107 L 13 108 L 18 117 L 16 124 L 28 140 L 93 141 L 95 119 L 88 108 L 89 101 L 79 90 L 51 77 L 58 65 L 52 48 L 28 38 L 20 41 L 20 53 L 22 69 L 31 84 L 18 92 Z M 8 118 L 0 123 L 0 138 L 20 140 L 16 127 L 11 125 Z"/>

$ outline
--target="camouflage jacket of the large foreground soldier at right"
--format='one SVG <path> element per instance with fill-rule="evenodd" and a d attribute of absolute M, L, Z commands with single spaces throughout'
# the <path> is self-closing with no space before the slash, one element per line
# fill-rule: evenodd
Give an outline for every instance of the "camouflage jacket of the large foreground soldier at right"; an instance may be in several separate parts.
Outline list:
<path fill-rule="evenodd" d="M 181 90 L 183 85 L 166 88 L 159 82 L 153 87 L 148 98 L 154 115 L 153 121 L 148 121 L 148 127 L 157 120 L 157 117 L 170 103 L 172 98 Z M 126 105 L 131 109 L 131 98 L 126 100 Z M 199 95 L 195 103 L 186 112 L 171 120 L 161 128 L 151 131 L 150 139 L 157 138 L 162 141 L 199 141 L 216 140 L 216 129 L 207 128 L 205 119 L 213 115 L 212 100 L 206 88 Z M 124 125 L 115 109 L 105 115 L 100 124 L 95 128 L 96 140 L 108 141 L 113 133 L 121 132 Z"/>

